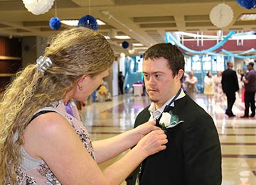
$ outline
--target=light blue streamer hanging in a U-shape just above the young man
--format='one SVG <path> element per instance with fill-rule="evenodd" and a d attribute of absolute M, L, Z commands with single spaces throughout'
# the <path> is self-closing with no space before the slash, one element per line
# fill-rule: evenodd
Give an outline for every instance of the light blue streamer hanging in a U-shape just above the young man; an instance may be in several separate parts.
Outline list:
<path fill-rule="evenodd" d="M 230 37 L 232 37 L 232 35 L 234 33 L 235 33 L 235 30 L 231 30 L 230 33 L 228 33 L 228 35 L 226 35 L 225 38 L 220 41 L 220 43 L 214 45 L 213 47 L 210 47 L 208 50 L 201 50 L 201 51 L 191 50 L 188 47 L 182 45 L 181 43 L 178 42 L 178 40 L 176 40 L 176 38 L 174 38 L 173 35 L 171 35 L 170 32 L 165 33 L 165 41 L 166 41 L 166 43 L 171 43 L 171 40 L 173 40 L 174 43 L 176 43 L 176 45 L 178 45 L 178 47 L 181 47 L 183 50 L 186 50 L 187 52 L 203 54 L 203 53 L 207 53 L 207 52 L 212 52 L 213 50 L 216 50 L 218 47 L 221 47 L 222 45 L 224 45 L 228 41 L 228 39 Z"/>

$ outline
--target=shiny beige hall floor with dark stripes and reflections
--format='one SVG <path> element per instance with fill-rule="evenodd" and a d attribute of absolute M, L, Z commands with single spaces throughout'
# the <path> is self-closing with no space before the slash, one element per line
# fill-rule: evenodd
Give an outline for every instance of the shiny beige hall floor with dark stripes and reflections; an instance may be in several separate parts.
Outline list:
<path fill-rule="evenodd" d="M 234 118 L 225 115 L 225 101 L 207 103 L 206 97 L 198 94 L 196 102 L 213 117 L 218 129 L 223 155 L 223 185 L 256 184 L 256 118 L 240 118 L 245 106 L 239 97 L 233 106 Z M 100 140 L 132 129 L 137 114 L 149 103 L 148 96 L 114 96 L 112 101 L 87 103 L 82 107 L 81 116 L 92 140 Z M 100 167 L 104 169 L 122 155 L 100 164 Z"/>

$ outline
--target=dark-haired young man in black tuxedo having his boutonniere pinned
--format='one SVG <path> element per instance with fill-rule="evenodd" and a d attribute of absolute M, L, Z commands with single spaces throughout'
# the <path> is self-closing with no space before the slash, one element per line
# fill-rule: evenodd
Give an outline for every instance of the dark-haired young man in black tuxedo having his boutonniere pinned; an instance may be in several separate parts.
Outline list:
<path fill-rule="evenodd" d="M 147 120 L 162 125 L 169 113 L 171 128 L 165 151 L 147 157 L 127 178 L 140 185 L 219 185 L 221 151 L 213 119 L 181 89 L 184 57 L 178 47 L 160 43 L 144 53 L 143 73 L 151 104 L 139 113 L 134 127 Z"/>

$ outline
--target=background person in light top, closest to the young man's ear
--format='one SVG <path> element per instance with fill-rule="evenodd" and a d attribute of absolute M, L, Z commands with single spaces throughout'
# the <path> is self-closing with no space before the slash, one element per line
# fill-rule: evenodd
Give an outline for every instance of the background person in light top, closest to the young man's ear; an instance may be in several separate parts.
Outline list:
<path fill-rule="evenodd" d="M 198 82 L 198 79 L 195 77 L 193 71 L 189 72 L 189 76 L 186 78 L 185 84 L 186 84 L 186 92 L 188 96 L 191 97 L 194 101 L 196 100 L 196 84 Z"/>

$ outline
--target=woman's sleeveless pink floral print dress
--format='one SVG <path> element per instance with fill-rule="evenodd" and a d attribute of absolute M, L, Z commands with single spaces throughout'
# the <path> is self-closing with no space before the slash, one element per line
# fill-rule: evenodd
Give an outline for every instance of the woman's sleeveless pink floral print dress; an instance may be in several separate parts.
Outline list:
<path fill-rule="evenodd" d="M 66 113 L 63 101 L 56 102 L 53 107 L 42 108 L 40 111 L 55 111 L 64 116 L 70 125 L 73 126 L 75 133 L 80 137 L 81 142 L 85 146 L 86 150 L 95 159 L 92 142 L 90 136 L 80 121 L 78 109 L 75 107 L 75 103 L 72 103 L 73 114 Z M 46 162 L 41 159 L 34 159 L 29 156 L 26 151 L 21 147 L 22 162 L 16 172 L 16 184 L 18 185 L 31 185 L 31 184 L 48 184 L 48 185 L 59 185 L 60 181 L 54 176 L 53 172 L 47 166 Z"/>

